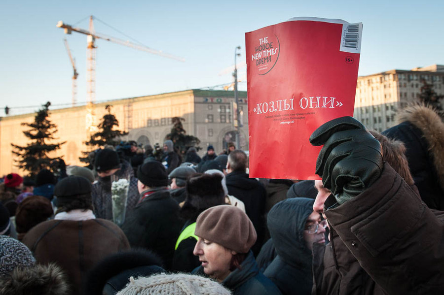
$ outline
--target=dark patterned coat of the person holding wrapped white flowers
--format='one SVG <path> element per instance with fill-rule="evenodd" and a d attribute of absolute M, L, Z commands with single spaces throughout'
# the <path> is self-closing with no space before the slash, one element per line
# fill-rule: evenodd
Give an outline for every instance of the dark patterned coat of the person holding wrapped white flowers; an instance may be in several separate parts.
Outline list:
<path fill-rule="evenodd" d="M 126 211 L 133 209 L 139 201 L 139 190 L 137 189 L 137 178 L 134 177 L 134 170 L 127 161 L 122 161 L 121 168 L 115 172 L 120 177 L 130 176 L 128 189 L 128 199 L 126 200 Z M 99 181 L 92 185 L 91 196 L 94 205 L 94 215 L 97 218 L 112 220 L 111 202 L 111 177 L 99 178 Z"/>

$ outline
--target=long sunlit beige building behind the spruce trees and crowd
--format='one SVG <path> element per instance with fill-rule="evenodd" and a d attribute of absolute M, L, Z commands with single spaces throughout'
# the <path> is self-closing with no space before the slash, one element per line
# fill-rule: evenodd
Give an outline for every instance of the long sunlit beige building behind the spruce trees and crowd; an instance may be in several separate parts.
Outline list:
<path fill-rule="evenodd" d="M 238 148 L 248 150 L 247 93 L 239 92 L 239 110 L 244 112 L 243 127 L 239 128 Z M 154 96 L 111 100 L 94 105 L 94 116 L 88 116 L 86 106 L 56 109 L 50 111 L 49 120 L 57 126 L 54 142 L 66 141 L 61 149 L 50 157 L 61 157 L 68 165 L 84 165 L 79 157 L 88 151 L 83 143 L 88 139 L 88 121 L 97 126 L 107 113 L 105 107 L 112 105 L 111 114 L 119 121 L 119 130 L 128 131 L 122 140 L 136 140 L 141 144 L 163 144 L 165 136 L 172 128 L 172 118 L 182 117 L 187 134 L 200 140 L 199 152 L 203 155 L 208 145 L 213 145 L 216 153 L 226 148 L 227 142 L 236 140 L 233 124 L 233 91 L 187 90 Z M 24 114 L 0 118 L 0 174 L 19 172 L 14 165 L 11 143 L 26 145 L 28 138 L 23 131 L 27 127 L 21 123 L 31 123 L 35 114 Z"/>

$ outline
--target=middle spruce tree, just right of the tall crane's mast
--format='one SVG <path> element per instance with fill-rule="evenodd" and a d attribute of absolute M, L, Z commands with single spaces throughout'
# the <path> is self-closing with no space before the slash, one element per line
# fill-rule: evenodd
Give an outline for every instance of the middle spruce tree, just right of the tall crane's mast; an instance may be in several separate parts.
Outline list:
<path fill-rule="evenodd" d="M 120 136 L 128 134 L 128 132 L 120 131 L 114 127 L 119 127 L 119 121 L 111 114 L 112 105 L 107 105 L 105 109 L 108 114 L 102 117 L 100 124 L 97 126 L 99 131 L 91 134 L 89 141 L 85 141 L 86 146 L 91 149 L 97 149 L 106 145 L 116 146 L 120 143 Z M 81 162 L 89 163 L 91 159 L 87 157 L 89 152 L 82 152 L 85 158 L 79 158 Z"/>

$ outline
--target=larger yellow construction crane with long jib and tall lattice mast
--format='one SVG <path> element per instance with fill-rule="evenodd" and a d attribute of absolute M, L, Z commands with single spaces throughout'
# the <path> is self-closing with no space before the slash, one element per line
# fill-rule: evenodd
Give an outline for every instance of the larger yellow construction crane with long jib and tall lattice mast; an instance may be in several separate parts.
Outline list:
<path fill-rule="evenodd" d="M 125 41 L 125 40 L 121 40 L 118 38 L 107 36 L 105 34 L 96 33 L 94 30 L 93 18 L 94 17 L 92 15 L 89 17 L 89 30 L 75 28 L 71 25 L 65 24 L 63 21 L 59 21 L 56 25 L 57 28 L 64 29 L 64 32 L 66 34 L 71 34 L 72 32 L 77 32 L 77 33 L 82 33 L 82 34 L 86 35 L 86 40 L 87 40 L 86 81 L 87 81 L 87 98 L 88 98 L 88 103 L 87 103 L 88 114 L 87 114 L 87 118 L 86 118 L 86 120 L 87 120 L 86 127 L 87 127 L 87 129 L 89 129 L 90 132 L 93 132 L 96 129 L 95 124 L 94 124 L 94 110 L 93 110 L 93 104 L 95 102 L 95 85 L 96 85 L 96 48 L 97 48 L 96 44 L 95 44 L 96 39 L 107 40 L 107 41 L 117 43 L 120 45 L 132 47 L 134 49 L 147 51 L 152 54 L 160 55 L 165 58 L 185 62 L 185 59 L 183 59 L 183 58 L 176 57 L 176 56 L 168 54 L 168 53 L 164 53 L 160 50 L 155 50 L 155 49 L 149 48 L 144 45 L 134 44 L 129 41 Z"/>

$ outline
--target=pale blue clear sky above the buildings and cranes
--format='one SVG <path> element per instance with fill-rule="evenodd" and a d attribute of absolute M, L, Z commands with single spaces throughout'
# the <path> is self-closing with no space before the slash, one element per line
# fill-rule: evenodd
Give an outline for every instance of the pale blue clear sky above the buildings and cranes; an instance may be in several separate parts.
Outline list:
<path fill-rule="evenodd" d="M 411 3 L 410 3 L 411 2 Z M 363 23 L 359 74 L 444 64 L 444 4 L 428 1 L 32 1 L 0 3 L 0 116 L 51 101 L 71 103 L 72 67 L 59 20 L 88 29 L 89 15 L 185 63 L 97 40 L 96 101 L 230 83 L 234 48 L 244 33 L 297 16 Z M 124 35 L 95 21 L 97 33 Z M 66 35 L 79 72 L 77 101 L 86 101 L 86 36 Z M 239 76 L 246 68 L 239 69 Z M 246 90 L 246 82 L 240 83 Z"/>

